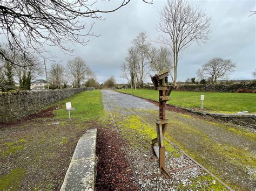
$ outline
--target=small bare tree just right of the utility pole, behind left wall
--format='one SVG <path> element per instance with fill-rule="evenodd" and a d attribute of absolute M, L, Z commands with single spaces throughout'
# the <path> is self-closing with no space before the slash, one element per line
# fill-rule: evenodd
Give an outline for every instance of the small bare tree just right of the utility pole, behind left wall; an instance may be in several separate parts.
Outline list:
<path fill-rule="evenodd" d="M 49 79 L 52 85 L 57 87 L 58 89 L 61 87 L 62 83 L 64 83 L 64 72 L 65 68 L 61 65 L 61 63 L 51 63 Z"/>

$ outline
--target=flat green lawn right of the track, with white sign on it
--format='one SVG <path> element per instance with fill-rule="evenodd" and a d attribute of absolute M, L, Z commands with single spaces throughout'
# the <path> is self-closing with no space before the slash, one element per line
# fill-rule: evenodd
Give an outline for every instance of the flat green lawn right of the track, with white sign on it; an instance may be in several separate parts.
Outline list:
<path fill-rule="evenodd" d="M 158 101 L 158 91 L 148 89 L 120 89 L 120 92 Z M 204 109 L 211 112 L 236 113 L 248 111 L 256 113 L 256 94 L 212 93 L 195 91 L 172 91 L 167 103 L 185 108 L 200 108 L 200 95 L 205 95 Z"/>

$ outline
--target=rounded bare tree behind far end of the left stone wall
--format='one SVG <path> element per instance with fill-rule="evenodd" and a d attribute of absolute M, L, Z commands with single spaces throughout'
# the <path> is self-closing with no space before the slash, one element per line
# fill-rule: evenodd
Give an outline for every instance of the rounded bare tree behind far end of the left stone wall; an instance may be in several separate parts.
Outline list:
<path fill-rule="evenodd" d="M 81 84 L 90 77 L 92 70 L 80 57 L 75 57 L 69 60 L 67 63 L 68 70 L 66 71 L 70 75 L 70 81 L 73 87 L 80 87 Z"/>

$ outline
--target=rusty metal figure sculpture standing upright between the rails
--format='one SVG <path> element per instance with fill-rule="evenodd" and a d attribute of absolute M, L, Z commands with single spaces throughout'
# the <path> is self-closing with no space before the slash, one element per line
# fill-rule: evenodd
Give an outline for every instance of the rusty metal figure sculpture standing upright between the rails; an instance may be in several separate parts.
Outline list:
<path fill-rule="evenodd" d="M 156 90 L 159 90 L 159 119 L 157 119 L 157 138 L 152 140 L 152 149 L 154 154 L 157 155 L 157 150 L 155 149 L 156 143 L 159 146 L 159 168 L 164 174 L 166 179 L 170 179 L 170 174 L 166 171 L 164 161 L 165 161 L 165 147 L 164 147 L 164 133 L 167 128 L 168 119 L 165 117 L 165 105 L 170 99 L 169 95 L 173 89 L 172 86 L 168 86 L 168 77 L 170 70 L 164 70 L 154 76 L 151 76 L 151 80 Z"/>

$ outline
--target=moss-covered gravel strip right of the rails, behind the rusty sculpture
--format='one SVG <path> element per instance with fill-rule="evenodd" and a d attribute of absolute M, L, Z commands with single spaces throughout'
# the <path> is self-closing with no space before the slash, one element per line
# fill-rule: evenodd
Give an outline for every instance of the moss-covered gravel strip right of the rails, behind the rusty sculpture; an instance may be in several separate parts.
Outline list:
<path fill-rule="evenodd" d="M 123 115 L 125 112 L 127 115 L 134 112 L 154 128 L 158 117 L 158 103 L 117 91 L 106 91 L 104 94 L 109 96 L 112 104 L 116 104 L 112 105 L 113 111 Z M 124 105 L 129 110 L 125 110 Z M 232 188 L 256 188 L 255 132 L 169 107 L 166 110 L 166 117 L 169 119 L 166 135 L 172 138 L 172 142 Z"/>

